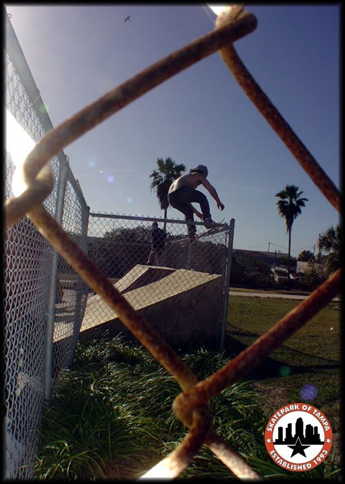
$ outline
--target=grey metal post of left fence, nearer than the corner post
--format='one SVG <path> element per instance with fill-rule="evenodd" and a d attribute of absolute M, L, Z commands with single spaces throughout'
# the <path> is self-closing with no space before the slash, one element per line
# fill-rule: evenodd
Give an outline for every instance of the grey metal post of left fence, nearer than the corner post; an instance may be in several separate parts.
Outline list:
<path fill-rule="evenodd" d="M 55 208 L 55 220 L 62 224 L 63 204 L 65 201 L 66 183 L 68 176 L 68 156 L 65 155 L 65 162 L 59 168 L 59 179 L 57 186 L 57 205 Z M 44 398 L 50 400 L 52 393 L 52 358 L 53 358 L 53 336 L 55 324 L 55 304 L 57 300 L 57 281 L 59 272 L 59 253 L 53 250 L 52 270 L 50 275 L 50 288 L 47 308 L 46 328 L 46 358 L 44 361 Z"/>

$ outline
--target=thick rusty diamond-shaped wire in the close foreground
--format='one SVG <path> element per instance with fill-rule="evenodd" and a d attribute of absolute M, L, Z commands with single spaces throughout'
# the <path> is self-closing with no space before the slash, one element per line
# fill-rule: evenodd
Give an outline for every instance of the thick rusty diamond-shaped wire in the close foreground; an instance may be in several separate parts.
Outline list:
<path fill-rule="evenodd" d="M 207 445 L 235 476 L 259 480 L 235 449 L 219 436 L 210 424 L 208 400 L 219 394 L 230 383 L 239 380 L 253 366 L 264 360 L 288 337 L 308 322 L 340 291 L 340 270 L 319 286 L 302 304 L 290 311 L 255 343 L 237 355 L 214 375 L 199 382 L 188 366 L 146 320 L 135 311 L 112 282 L 99 270 L 79 246 L 52 218 L 42 202 L 53 186 L 52 171 L 46 165 L 70 142 L 76 140 L 119 109 L 128 105 L 150 89 L 204 57 L 220 50 L 221 57 L 237 82 L 264 115 L 279 138 L 283 140 L 297 161 L 306 170 L 328 201 L 339 210 L 340 194 L 313 156 L 268 100 L 248 73 L 233 48 L 233 42 L 253 32 L 255 17 L 242 6 L 227 6 L 217 18 L 213 32 L 197 39 L 168 57 L 161 59 L 135 77 L 106 93 L 99 100 L 49 131 L 37 142 L 23 165 L 23 178 L 28 189 L 21 196 L 6 203 L 6 227 L 26 214 L 39 232 L 66 259 L 88 286 L 99 294 L 119 315 L 121 322 L 132 332 L 162 366 L 176 378 L 182 393 L 173 402 L 177 417 L 188 427 L 184 440 L 166 458 L 150 469 L 142 478 L 152 476 L 174 478 L 190 463 L 201 445 Z"/>

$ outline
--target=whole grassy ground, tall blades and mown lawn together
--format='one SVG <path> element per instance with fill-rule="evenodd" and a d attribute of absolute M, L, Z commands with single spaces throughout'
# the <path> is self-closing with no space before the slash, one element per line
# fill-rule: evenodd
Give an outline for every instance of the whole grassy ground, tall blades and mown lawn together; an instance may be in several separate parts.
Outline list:
<path fill-rule="evenodd" d="M 226 350 L 199 348 L 180 356 L 204 380 L 297 302 L 234 297 Z M 210 400 L 215 430 L 263 479 L 341 480 L 338 453 L 310 471 L 294 473 L 273 462 L 263 441 L 268 418 L 289 402 L 311 402 L 326 414 L 333 432 L 339 430 L 339 361 L 339 304 L 330 304 L 247 378 Z M 312 400 L 300 394 L 306 384 L 317 389 Z M 70 369 L 43 409 L 35 479 L 137 480 L 186 435 L 172 411 L 180 391 L 175 378 L 140 345 L 121 337 L 79 342 Z M 238 481 L 205 446 L 179 478 Z"/>

